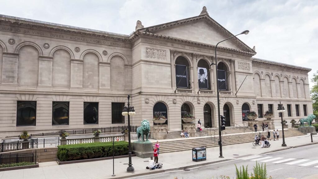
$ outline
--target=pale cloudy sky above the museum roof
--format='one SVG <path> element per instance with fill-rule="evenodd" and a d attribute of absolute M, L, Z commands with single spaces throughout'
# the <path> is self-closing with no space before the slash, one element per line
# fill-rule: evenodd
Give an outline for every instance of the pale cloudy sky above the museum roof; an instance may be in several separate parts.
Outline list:
<path fill-rule="evenodd" d="M 0 14 L 129 35 L 145 27 L 198 16 L 211 18 L 256 46 L 256 58 L 318 70 L 318 0 L 0 0 Z M 310 82 L 310 86 L 313 83 Z"/>

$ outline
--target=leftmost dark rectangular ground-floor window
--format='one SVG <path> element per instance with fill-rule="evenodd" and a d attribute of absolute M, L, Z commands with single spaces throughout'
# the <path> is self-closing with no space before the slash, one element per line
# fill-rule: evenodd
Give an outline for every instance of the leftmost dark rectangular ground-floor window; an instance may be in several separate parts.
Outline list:
<path fill-rule="evenodd" d="M 17 102 L 17 126 L 35 126 L 36 115 L 36 101 Z"/>

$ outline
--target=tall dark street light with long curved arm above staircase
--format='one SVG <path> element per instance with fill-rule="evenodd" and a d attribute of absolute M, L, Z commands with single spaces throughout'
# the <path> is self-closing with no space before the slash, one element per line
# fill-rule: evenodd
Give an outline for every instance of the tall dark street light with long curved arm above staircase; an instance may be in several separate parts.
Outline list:
<path fill-rule="evenodd" d="M 229 37 L 229 38 L 227 38 L 225 40 L 231 39 L 231 38 L 236 37 L 236 36 L 241 35 L 241 34 L 245 34 L 246 35 L 246 34 L 248 34 L 248 32 L 250 32 L 250 31 L 245 30 L 245 31 L 243 31 L 243 32 L 241 32 L 241 33 L 239 33 L 237 35 L 234 35 L 232 37 Z M 220 146 L 220 156 L 219 157 L 220 158 L 223 158 L 223 154 L 222 154 L 221 118 L 220 118 L 220 97 L 219 97 L 219 89 L 218 89 L 219 86 L 218 86 L 217 47 L 218 47 L 219 43 L 224 42 L 225 40 L 222 40 L 222 41 L 218 42 L 217 45 L 215 46 L 215 66 L 216 66 L 216 73 L 217 73 L 216 77 L 217 77 L 217 90 L 218 90 L 217 97 L 218 97 L 218 123 L 219 123 L 219 146 Z M 213 65 L 213 63 L 211 65 Z"/>

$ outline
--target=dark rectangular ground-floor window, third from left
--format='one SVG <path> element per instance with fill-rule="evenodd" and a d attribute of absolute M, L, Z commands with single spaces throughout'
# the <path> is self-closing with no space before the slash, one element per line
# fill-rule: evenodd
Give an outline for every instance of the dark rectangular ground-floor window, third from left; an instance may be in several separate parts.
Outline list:
<path fill-rule="evenodd" d="M 84 102 L 84 124 L 98 124 L 98 103 Z"/>

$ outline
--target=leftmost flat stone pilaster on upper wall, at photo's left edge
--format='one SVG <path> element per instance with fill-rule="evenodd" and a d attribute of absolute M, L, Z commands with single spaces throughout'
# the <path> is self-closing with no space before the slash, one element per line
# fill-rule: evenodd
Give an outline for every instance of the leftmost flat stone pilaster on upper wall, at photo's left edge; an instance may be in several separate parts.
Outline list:
<path fill-rule="evenodd" d="M 3 52 L 1 84 L 17 85 L 18 56 L 17 53 Z"/>

